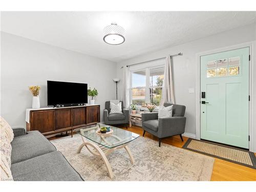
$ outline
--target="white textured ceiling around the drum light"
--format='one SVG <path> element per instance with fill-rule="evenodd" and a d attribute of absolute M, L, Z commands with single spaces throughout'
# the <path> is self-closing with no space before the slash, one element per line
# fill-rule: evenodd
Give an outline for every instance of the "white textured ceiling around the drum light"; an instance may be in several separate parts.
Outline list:
<path fill-rule="evenodd" d="M 256 12 L 1 12 L 1 30 L 118 62 L 255 20 Z M 102 40 L 112 22 L 125 29 L 118 46 Z"/>

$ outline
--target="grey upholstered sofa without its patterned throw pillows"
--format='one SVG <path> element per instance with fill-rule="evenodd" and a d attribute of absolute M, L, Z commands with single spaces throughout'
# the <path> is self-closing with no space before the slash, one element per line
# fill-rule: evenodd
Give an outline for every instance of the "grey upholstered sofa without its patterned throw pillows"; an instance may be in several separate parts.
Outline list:
<path fill-rule="evenodd" d="M 14 181 L 83 181 L 55 146 L 38 131 L 13 128 L 11 172 Z"/>

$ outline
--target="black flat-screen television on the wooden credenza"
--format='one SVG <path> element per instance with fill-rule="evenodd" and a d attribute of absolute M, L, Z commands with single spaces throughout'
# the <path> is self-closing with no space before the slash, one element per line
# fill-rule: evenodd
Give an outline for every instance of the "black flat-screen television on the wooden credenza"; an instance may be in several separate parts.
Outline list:
<path fill-rule="evenodd" d="M 47 81 L 48 105 L 87 102 L 87 83 Z"/>

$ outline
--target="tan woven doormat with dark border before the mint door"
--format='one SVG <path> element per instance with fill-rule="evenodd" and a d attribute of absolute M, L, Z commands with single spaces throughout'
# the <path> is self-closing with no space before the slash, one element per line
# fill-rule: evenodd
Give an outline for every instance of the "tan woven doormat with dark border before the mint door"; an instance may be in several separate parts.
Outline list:
<path fill-rule="evenodd" d="M 190 138 L 183 148 L 256 169 L 255 155 L 239 148 Z"/>

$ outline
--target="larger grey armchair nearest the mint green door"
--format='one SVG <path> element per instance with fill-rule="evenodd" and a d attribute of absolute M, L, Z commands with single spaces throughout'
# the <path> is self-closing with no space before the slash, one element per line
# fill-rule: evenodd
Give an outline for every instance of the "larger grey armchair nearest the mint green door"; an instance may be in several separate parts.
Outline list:
<path fill-rule="evenodd" d="M 164 106 L 173 106 L 173 117 L 158 118 L 158 113 L 142 113 L 143 136 L 146 132 L 158 137 L 159 147 L 161 139 L 174 135 L 182 135 L 185 132 L 186 117 L 184 117 L 186 106 L 179 104 L 164 103 Z"/>

